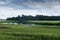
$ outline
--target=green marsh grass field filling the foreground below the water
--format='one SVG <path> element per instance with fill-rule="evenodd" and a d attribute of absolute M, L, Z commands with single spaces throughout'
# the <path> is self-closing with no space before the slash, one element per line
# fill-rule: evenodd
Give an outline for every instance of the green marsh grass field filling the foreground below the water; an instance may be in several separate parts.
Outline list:
<path fill-rule="evenodd" d="M 52 21 L 52 23 L 55 22 L 57 21 Z M 48 23 L 50 23 L 50 21 Z M 60 40 L 60 26 L 31 24 L 15 25 L 2 24 L 1 22 L 0 40 Z"/>

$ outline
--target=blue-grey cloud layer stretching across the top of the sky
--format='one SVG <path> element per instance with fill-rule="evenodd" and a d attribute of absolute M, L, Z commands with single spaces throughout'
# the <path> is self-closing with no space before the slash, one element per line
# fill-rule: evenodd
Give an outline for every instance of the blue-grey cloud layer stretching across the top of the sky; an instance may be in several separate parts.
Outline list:
<path fill-rule="evenodd" d="M 60 6 L 60 0 L 0 0 L 0 4 L 30 9 L 52 8 Z"/>

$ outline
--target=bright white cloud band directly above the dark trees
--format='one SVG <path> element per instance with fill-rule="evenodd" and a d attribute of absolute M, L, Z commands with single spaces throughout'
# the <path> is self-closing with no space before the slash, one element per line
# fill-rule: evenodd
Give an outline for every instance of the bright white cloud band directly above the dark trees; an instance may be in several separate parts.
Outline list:
<path fill-rule="evenodd" d="M 60 10 L 56 9 L 14 9 L 9 7 L 0 7 L 0 19 L 7 17 L 16 17 L 18 15 L 60 15 Z"/>

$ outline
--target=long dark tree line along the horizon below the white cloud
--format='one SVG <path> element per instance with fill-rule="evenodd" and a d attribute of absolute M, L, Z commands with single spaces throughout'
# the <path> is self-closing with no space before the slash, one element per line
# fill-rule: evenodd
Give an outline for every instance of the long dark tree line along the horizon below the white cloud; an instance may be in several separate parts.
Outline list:
<path fill-rule="evenodd" d="M 18 15 L 17 17 L 7 18 L 7 20 L 19 20 L 19 21 L 28 21 L 28 20 L 60 20 L 60 16 L 44 16 L 44 15 L 36 15 L 36 16 L 26 16 L 26 15 Z"/>

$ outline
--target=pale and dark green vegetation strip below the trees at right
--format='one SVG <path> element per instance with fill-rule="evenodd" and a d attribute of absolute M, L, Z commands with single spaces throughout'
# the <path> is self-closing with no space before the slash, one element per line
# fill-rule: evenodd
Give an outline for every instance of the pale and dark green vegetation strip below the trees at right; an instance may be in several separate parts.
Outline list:
<path fill-rule="evenodd" d="M 54 25 L 54 26 L 60 26 L 60 21 L 28 21 L 31 24 L 36 25 Z"/>

